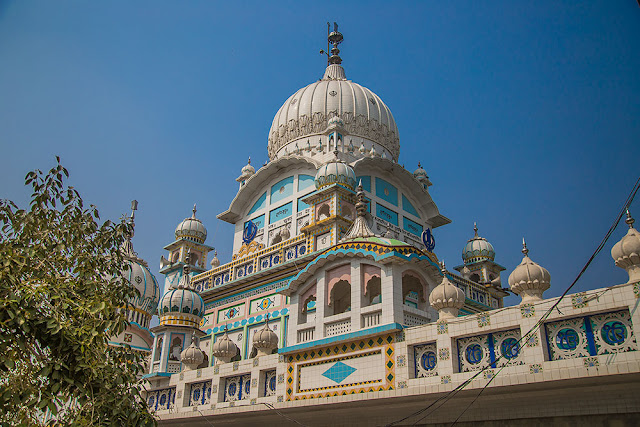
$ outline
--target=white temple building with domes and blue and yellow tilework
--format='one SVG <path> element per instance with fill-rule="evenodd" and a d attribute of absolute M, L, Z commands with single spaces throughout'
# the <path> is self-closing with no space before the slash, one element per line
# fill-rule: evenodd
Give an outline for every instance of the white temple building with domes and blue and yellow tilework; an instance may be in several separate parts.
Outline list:
<path fill-rule="evenodd" d="M 135 340 L 150 351 L 146 398 L 160 423 L 640 422 L 631 216 L 611 251 L 626 283 L 545 299 L 541 249 L 523 242 L 522 262 L 505 268 L 477 227 L 449 270 L 433 230 L 451 221 L 426 171 L 397 163 L 391 110 L 347 79 L 337 26 L 328 38 L 324 75 L 277 111 L 269 162 L 241 169 L 218 215 L 235 227 L 233 259 L 208 262 L 195 207 L 164 248 L 163 296 L 141 287 L 138 277 L 155 279 L 130 257 L 141 290 L 132 325 L 153 336 Z M 505 307 L 509 292 L 521 303 Z"/>

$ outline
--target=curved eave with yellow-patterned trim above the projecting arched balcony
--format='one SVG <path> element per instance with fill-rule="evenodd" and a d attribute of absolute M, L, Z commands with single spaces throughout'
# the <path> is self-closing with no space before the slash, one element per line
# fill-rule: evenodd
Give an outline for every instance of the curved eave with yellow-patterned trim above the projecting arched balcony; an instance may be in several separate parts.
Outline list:
<path fill-rule="evenodd" d="M 426 271 L 430 271 L 434 277 L 440 276 L 438 259 L 431 252 L 425 252 L 405 244 L 383 245 L 372 241 L 372 239 L 353 239 L 340 242 L 322 252 L 316 259 L 300 270 L 280 292 L 285 295 L 291 295 L 327 263 L 343 258 L 367 258 L 381 264 L 393 262 L 413 263 L 418 264 Z"/>

